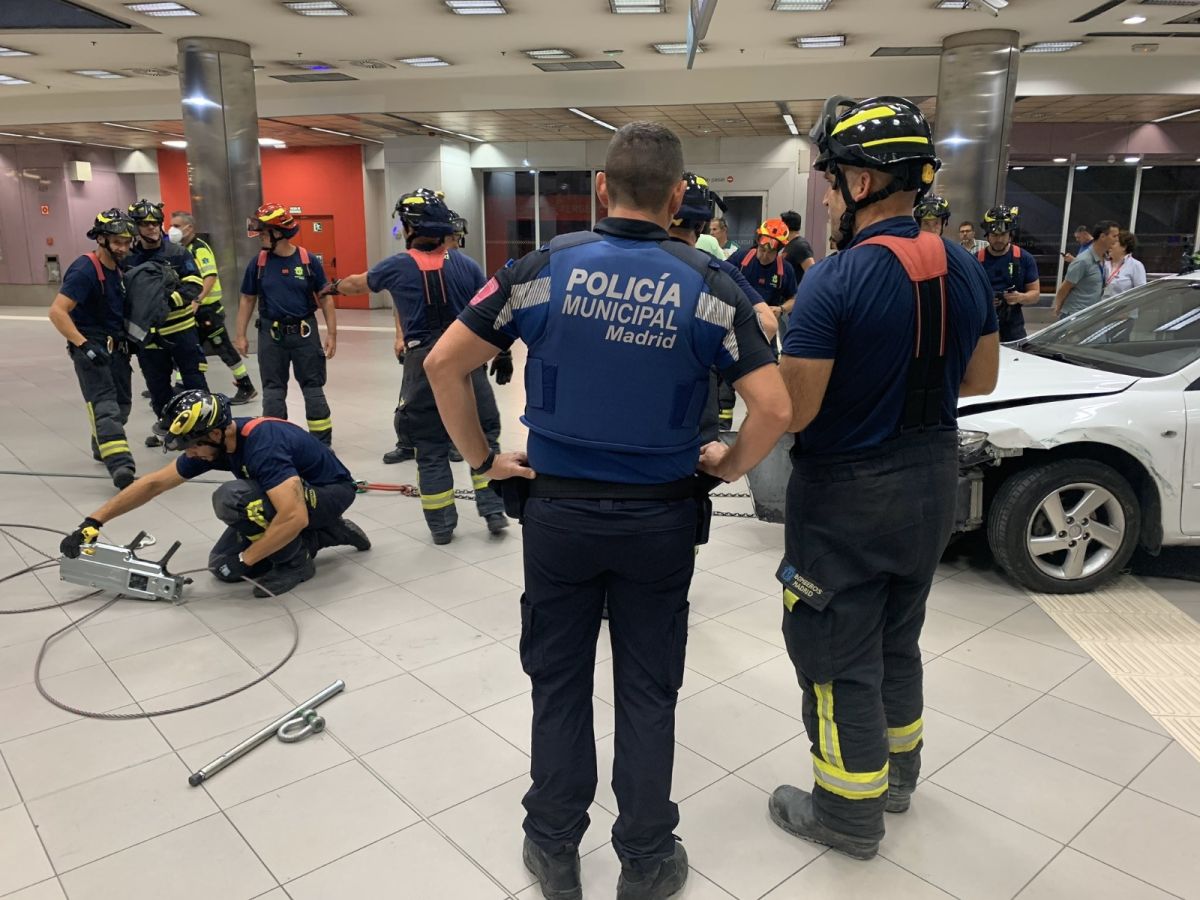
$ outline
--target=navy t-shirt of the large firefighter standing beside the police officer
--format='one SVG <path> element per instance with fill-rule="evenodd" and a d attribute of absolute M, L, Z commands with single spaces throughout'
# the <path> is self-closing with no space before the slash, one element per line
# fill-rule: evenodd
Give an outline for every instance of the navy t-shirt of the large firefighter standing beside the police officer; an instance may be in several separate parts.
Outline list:
<path fill-rule="evenodd" d="M 784 355 L 832 359 L 834 365 L 821 410 L 797 436 L 797 452 L 864 450 L 899 434 L 914 342 L 912 282 L 889 250 L 857 245 L 883 234 L 916 238 L 917 232 L 911 216 L 876 222 L 850 248 L 804 276 Z M 958 244 L 944 244 L 949 298 L 942 427 L 952 430 L 967 364 L 979 338 L 996 331 L 996 310 L 983 268 Z"/>

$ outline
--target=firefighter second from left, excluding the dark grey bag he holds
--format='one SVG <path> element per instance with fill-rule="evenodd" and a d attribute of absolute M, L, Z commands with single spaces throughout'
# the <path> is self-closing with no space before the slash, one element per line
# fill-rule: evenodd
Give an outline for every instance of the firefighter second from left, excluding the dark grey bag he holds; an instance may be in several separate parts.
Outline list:
<path fill-rule="evenodd" d="M 125 263 L 125 270 L 136 269 L 143 263 L 161 262 L 174 269 L 181 282 L 178 290 L 167 298 L 169 312 L 166 320 L 158 325 L 138 347 L 138 364 L 142 376 L 150 390 L 150 408 L 154 414 L 162 410 L 175 395 L 172 384 L 173 371 L 179 372 L 185 389 L 208 390 L 204 378 L 204 352 L 200 349 L 200 336 L 196 329 L 196 314 L 192 304 L 204 289 L 200 270 L 196 268 L 192 254 L 178 244 L 163 240 L 162 204 L 150 200 L 138 200 L 130 206 L 130 218 L 138 229 L 138 239 L 133 252 Z M 158 446 L 157 434 L 150 434 L 146 446 Z"/>

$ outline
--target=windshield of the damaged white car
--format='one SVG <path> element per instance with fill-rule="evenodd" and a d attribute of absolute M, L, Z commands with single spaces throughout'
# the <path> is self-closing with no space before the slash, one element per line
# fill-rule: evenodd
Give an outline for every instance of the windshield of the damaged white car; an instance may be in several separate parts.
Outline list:
<path fill-rule="evenodd" d="M 1152 282 L 1039 331 L 1020 349 L 1142 378 L 1174 374 L 1200 359 L 1200 281 Z"/>

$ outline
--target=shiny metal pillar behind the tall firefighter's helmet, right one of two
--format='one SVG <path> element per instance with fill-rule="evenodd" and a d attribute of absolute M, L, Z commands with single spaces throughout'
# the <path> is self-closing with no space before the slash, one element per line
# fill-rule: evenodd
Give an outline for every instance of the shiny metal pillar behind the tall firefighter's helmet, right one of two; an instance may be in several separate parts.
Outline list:
<path fill-rule="evenodd" d="M 990 29 L 942 41 L 937 76 L 937 191 L 954 222 L 978 222 L 1004 199 L 1008 139 L 1016 97 L 1016 31 Z"/>

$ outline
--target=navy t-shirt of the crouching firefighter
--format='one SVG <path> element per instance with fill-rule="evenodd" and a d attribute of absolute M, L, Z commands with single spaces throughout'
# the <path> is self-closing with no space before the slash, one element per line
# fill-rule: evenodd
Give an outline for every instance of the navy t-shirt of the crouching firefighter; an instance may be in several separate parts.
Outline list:
<path fill-rule="evenodd" d="M 251 420 L 233 421 L 238 426 L 238 448 L 214 462 L 180 455 L 175 460 L 175 472 L 180 478 L 196 478 L 218 469 L 257 481 L 264 491 L 278 487 L 295 475 L 306 485 L 318 487 L 354 480 L 334 451 L 299 425 L 264 419 L 248 436 L 242 436 L 242 427 Z"/>

